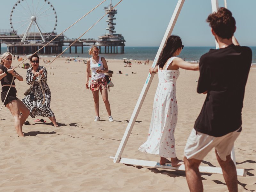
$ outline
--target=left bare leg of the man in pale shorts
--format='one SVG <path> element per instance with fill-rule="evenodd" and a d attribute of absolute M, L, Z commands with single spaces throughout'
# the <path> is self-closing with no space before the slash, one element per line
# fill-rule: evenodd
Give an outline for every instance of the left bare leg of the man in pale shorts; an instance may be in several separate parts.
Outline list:
<path fill-rule="evenodd" d="M 203 192 L 203 183 L 198 168 L 201 160 L 184 157 L 184 163 L 190 192 Z"/>

